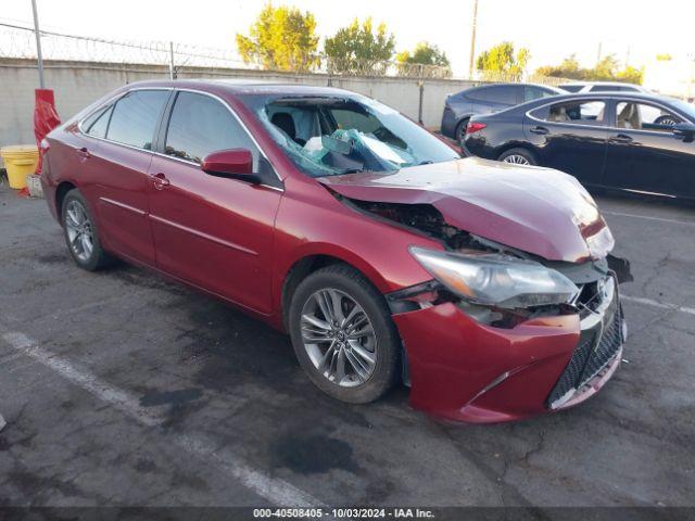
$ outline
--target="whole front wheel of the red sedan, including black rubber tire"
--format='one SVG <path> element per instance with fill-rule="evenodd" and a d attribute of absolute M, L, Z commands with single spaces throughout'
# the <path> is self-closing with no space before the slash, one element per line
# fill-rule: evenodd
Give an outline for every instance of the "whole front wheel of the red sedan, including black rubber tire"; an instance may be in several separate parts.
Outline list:
<path fill-rule="evenodd" d="M 367 404 L 400 374 L 401 342 L 383 296 L 344 264 L 306 277 L 292 295 L 288 327 L 309 380 L 329 396 Z"/>

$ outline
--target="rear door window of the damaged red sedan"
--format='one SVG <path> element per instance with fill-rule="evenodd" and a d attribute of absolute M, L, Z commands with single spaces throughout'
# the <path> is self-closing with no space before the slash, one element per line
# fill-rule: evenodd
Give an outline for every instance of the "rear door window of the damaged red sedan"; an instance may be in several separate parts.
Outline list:
<path fill-rule="evenodd" d="M 106 138 L 152 150 L 156 122 L 168 96 L 167 90 L 137 90 L 121 98 L 113 109 Z"/>

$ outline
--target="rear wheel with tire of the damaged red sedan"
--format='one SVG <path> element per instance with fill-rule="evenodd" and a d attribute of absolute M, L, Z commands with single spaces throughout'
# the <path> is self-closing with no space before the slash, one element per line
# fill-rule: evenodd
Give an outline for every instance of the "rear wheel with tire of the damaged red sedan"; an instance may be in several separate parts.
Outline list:
<path fill-rule="evenodd" d="M 75 264 L 87 271 L 111 265 L 113 257 L 101 246 L 99 230 L 79 190 L 67 192 L 61 208 L 65 243 Z"/>

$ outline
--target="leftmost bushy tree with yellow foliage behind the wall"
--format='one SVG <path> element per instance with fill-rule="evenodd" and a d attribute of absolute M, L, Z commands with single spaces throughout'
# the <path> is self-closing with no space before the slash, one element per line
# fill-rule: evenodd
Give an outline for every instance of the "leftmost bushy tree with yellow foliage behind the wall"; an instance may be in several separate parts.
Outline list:
<path fill-rule="evenodd" d="M 318 65 L 316 20 L 308 11 L 267 3 L 249 36 L 237 34 L 237 49 L 245 63 L 279 71 L 309 71 Z"/>

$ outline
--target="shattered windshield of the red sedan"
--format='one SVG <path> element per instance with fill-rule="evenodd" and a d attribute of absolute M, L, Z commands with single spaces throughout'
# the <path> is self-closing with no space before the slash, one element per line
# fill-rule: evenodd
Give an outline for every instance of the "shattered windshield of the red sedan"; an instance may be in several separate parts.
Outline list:
<path fill-rule="evenodd" d="M 396 171 L 459 157 L 393 109 L 357 94 L 279 98 L 257 106 L 256 114 L 312 177 Z"/>

